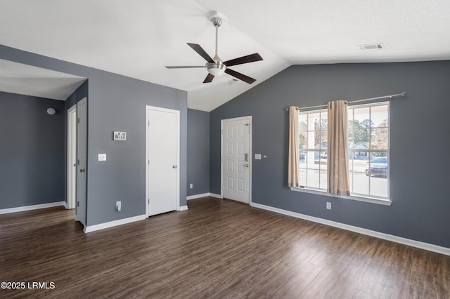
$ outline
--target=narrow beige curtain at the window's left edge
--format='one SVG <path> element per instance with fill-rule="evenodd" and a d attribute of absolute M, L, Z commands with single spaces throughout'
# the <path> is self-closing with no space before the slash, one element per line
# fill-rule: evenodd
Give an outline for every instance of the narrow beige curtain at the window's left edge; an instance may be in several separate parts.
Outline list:
<path fill-rule="evenodd" d="M 298 107 L 291 106 L 289 107 L 289 187 L 299 187 L 300 184 L 298 138 Z"/>

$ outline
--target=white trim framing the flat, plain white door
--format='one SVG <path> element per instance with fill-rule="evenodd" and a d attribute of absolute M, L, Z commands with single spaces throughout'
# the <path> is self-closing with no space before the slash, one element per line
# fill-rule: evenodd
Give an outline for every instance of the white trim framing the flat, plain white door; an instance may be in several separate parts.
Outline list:
<path fill-rule="evenodd" d="M 148 211 L 148 200 L 150 199 L 150 190 L 148 186 L 148 178 L 150 177 L 150 128 L 148 126 L 150 121 L 150 111 L 160 111 L 160 112 L 169 112 L 176 114 L 176 165 L 178 166 L 176 168 L 176 211 L 179 211 L 180 209 L 180 112 L 179 110 L 175 109 L 167 109 L 167 108 L 161 108 L 161 107 L 155 107 L 155 106 L 148 106 L 146 105 L 146 198 L 145 198 L 145 204 L 146 204 L 146 217 L 149 217 L 149 211 Z"/>

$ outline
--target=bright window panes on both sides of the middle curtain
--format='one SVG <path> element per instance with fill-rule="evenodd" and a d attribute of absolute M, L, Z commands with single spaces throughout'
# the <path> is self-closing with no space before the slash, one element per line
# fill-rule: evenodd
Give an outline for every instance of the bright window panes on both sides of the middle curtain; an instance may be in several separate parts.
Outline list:
<path fill-rule="evenodd" d="M 349 187 L 356 197 L 389 198 L 389 102 L 348 108 Z M 299 114 L 300 187 L 326 192 L 326 109 Z"/>

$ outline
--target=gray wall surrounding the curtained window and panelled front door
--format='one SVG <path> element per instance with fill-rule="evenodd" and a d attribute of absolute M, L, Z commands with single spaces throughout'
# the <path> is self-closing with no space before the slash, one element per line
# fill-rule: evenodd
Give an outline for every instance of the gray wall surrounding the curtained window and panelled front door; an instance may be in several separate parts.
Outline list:
<path fill-rule="evenodd" d="M 210 112 L 210 192 L 220 194 L 220 120 L 252 115 L 252 201 L 450 247 L 450 61 L 297 65 Z M 406 91 L 390 105 L 392 206 L 287 187 L 288 113 L 329 100 Z M 332 210 L 326 210 L 326 201 Z"/>

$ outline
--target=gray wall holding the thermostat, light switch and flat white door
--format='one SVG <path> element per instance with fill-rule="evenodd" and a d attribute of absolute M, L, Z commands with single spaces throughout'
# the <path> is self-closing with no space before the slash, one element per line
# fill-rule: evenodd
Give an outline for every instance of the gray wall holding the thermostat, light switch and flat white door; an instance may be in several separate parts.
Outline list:
<path fill-rule="evenodd" d="M 89 79 L 86 225 L 145 213 L 145 107 L 180 111 L 180 206 L 186 205 L 187 94 L 91 67 L 0 46 L 0 58 L 75 74 Z M 113 131 L 126 131 L 126 142 L 113 142 Z M 97 155 L 106 153 L 106 162 Z M 115 201 L 122 211 L 115 211 Z"/>

